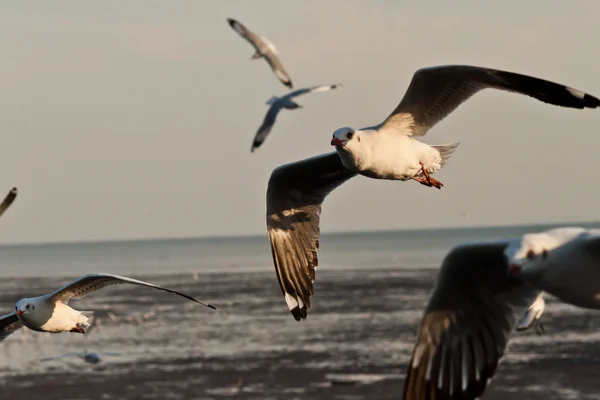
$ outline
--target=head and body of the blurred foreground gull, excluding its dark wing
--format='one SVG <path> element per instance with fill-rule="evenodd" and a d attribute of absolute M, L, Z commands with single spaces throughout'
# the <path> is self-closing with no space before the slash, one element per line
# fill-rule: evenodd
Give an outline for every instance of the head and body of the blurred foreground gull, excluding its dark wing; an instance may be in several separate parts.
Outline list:
<path fill-rule="evenodd" d="M 600 229 L 523 235 L 505 250 L 509 273 L 572 305 L 600 310 Z"/>

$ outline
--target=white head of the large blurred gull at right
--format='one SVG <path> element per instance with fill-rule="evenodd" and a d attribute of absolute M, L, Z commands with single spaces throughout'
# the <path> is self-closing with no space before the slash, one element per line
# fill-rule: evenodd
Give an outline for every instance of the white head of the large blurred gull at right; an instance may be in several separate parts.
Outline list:
<path fill-rule="evenodd" d="M 581 228 L 557 228 L 523 235 L 504 249 L 508 274 L 534 277 L 552 259 L 552 250 L 583 232 Z"/>

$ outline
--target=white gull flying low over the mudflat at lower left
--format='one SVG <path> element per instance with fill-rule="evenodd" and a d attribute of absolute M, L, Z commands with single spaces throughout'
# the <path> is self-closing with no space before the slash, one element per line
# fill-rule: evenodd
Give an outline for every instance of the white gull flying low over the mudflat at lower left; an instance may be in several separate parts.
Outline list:
<path fill-rule="evenodd" d="M 11 333 L 22 326 L 38 332 L 77 332 L 85 334 L 86 330 L 90 327 L 90 317 L 93 315 L 93 311 L 74 310 L 67 305 L 69 300 L 77 300 L 107 286 L 124 283 L 146 286 L 177 294 L 216 310 L 210 304 L 203 303 L 187 294 L 162 286 L 119 275 L 103 273 L 89 274 L 63 286 L 54 293 L 19 300 L 14 312 L 0 317 L 0 341 L 6 339 Z"/>

